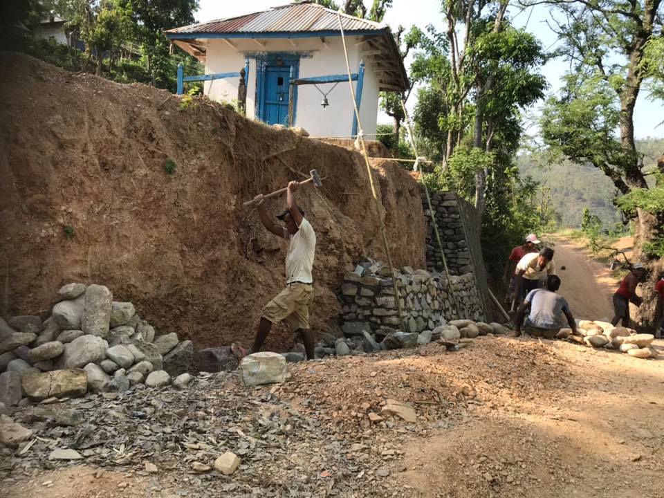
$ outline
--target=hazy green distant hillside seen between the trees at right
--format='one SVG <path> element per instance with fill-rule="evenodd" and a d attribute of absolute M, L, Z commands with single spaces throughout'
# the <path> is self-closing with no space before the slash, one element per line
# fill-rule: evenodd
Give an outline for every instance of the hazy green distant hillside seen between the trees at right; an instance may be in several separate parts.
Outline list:
<path fill-rule="evenodd" d="M 664 139 L 638 140 L 637 147 L 645 154 L 643 163 L 648 170 L 664 154 Z M 517 166 L 522 176 L 531 176 L 551 189 L 553 208 L 562 215 L 564 226 L 578 227 L 583 208 L 599 216 L 607 228 L 620 221 L 620 213 L 613 205 L 616 188 L 599 169 L 568 160 L 546 164 L 537 154 L 521 154 Z"/>

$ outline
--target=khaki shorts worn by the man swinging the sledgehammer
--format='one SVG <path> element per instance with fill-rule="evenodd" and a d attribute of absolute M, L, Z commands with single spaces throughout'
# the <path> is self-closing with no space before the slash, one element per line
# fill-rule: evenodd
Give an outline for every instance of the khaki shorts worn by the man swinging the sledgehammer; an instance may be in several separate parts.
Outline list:
<path fill-rule="evenodd" d="M 286 284 L 286 288 L 261 311 L 261 317 L 277 324 L 286 320 L 291 332 L 309 328 L 309 306 L 313 287 L 307 284 Z"/>

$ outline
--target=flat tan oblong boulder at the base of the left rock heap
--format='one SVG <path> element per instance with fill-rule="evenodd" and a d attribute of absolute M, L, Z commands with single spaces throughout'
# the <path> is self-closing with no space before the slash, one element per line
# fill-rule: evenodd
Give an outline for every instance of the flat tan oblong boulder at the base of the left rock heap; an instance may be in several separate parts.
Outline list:
<path fill-rule="evenodd" d="M 26 374 L 21 379 L 25 393 L 33 400 L 46 398 L 77 398 L 88 389 L 88 379 L 82 369 L 53 370 Z"/>

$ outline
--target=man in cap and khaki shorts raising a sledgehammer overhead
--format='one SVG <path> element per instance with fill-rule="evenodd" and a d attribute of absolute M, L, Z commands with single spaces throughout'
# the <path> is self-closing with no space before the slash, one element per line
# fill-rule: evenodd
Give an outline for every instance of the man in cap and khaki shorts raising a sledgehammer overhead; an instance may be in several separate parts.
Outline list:
<path fill-rule="evenodd" d="M 263 226 L 278 237 L 288 241 L 286 254 L 286 288 L 264 306 L 261 311 L 261 322 L 254 345 L 248 353 L 261 350 L 270 333 L 272 324 L 286 320 L 293 333 L 302 335 L 306 358 L 313 360 L 313 332 L 309 329 L 309 307 L 313 302 L 313 257 L 316 250 L 316 234 L 311 224 L 304 218 L 304 211 L 295 201 L 295 191 L 299 183 L 288 183 L 286 199 L 288 208 L 277 219 L 284 225 L 277 225 L 266 212 L 263 196 L 257 195 L 258 216 Z"/>

